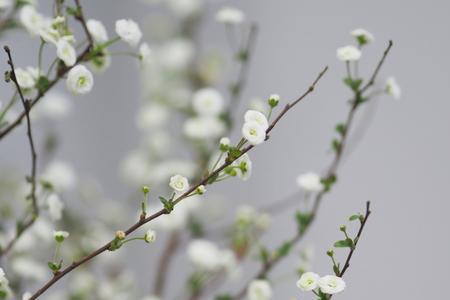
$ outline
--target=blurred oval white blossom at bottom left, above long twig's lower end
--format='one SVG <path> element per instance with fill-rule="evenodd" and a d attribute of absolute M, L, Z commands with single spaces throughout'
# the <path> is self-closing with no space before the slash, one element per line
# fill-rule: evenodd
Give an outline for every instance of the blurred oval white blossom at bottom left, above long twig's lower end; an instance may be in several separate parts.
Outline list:
<path fill-rule="evenodd" d="M 14 258 L 11 262 L 11 270 L 16 276 L 32 281 L 43 281 L 49 275 L 46 266 L 33 259 L 23 256 Z"/>

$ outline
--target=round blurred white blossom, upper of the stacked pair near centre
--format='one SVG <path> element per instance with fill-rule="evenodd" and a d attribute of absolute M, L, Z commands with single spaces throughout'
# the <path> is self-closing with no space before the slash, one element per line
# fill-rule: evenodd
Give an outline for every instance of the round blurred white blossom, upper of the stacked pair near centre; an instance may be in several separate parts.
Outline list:
<path fill-rule="evenodd" d="M 203 88 L 194 94 L 192 106 L 201 116 L 217 116 L 223 111 L 224 103 L 222 95 L 217 90 Z"/>

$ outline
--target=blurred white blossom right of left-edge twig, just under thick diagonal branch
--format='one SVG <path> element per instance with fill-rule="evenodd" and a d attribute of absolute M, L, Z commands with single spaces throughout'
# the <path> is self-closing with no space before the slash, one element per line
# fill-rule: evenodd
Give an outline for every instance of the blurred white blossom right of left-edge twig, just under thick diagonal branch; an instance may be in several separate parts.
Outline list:
<path fill-rule="evenodd" d="M 57 91 L 45 94 L 41 103 L 35 108 L 39 115 L 54 120 L 67 116 L 71 109 L 72 102 L 65 95 Z"/>

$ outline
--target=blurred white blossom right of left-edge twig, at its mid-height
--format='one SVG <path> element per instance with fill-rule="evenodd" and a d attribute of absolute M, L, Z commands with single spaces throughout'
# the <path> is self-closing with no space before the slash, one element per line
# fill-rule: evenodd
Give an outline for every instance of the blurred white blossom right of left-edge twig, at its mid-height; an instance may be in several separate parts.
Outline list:
<path fill-rule="evenodd" d="M 48 164 L 41 177 L 49 181 L 56 191 L 72 189 L 77 183 L 77 177 L 72 166 L 63 161 L 53 161 Z"/>

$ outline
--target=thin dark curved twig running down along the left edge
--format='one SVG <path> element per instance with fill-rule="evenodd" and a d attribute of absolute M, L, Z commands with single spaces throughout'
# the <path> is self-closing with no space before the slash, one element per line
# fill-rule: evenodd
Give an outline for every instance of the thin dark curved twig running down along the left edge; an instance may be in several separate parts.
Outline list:
<path fill-rule="evenodd" d="M 17 81 L 16 71 L 14 68 L 14 62 L 13 62 L 13 59 L 11 56 L 11 50 L 9 49 L 8 46 L 5 46 L 4 49 L 5 49 L 6 53 L 8 54 L 8 64 L 11 68 L 11 71 L 9 73 L 10 78 L 16 86 L 20 100 L 22 101 L 23 109 L 25 112 L 26 120 L 27 120 L 27 136 L 28 136 L 28 142 L 30 144 L 30 151 L 31 151 L 31 174 L 27 178 L 27 180 L 31 184 L 31 190 L 30 190 L 30 194 L 28 197 L 31 199 L 32 216 L 31 216 L 31 219 L 29 219 L 28 221 L 21 224 L 20 228 L 17 229 L 16 236 L 8 243 L 8 245 L 5 247 L 5 249 L 0 251 L 0 256 L 5 255 L 6 253 L 8 253 L 11 250 L 12 246 L 15 244 L 15 242 L 20 237 L 20 235 L 26 229 L 31 227 L 31 225 L 33 225 L 34 221 L 36 220 L 36 218 L 39 215 L 39 207 L 38 207 L 37 199 L 36 199 L 36 158 L 37 158 L 37 155 L 36 155 L 36 149 L 34 147 L 33 135 L 31 132 L 29 100 L 25 99 L 22 89 L 19 85 L 19 82 Z"/>

